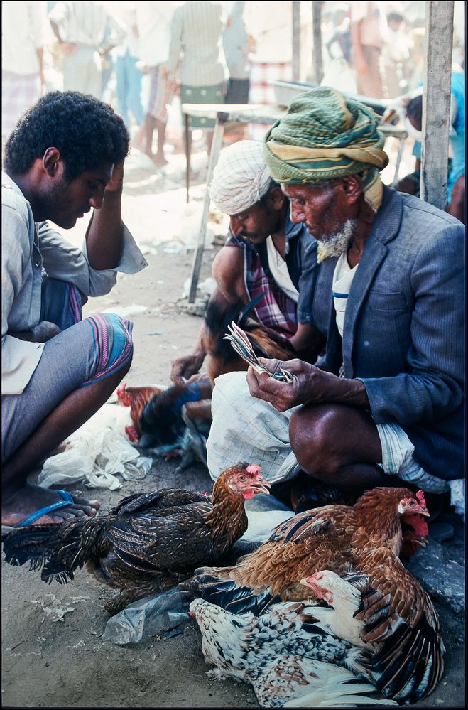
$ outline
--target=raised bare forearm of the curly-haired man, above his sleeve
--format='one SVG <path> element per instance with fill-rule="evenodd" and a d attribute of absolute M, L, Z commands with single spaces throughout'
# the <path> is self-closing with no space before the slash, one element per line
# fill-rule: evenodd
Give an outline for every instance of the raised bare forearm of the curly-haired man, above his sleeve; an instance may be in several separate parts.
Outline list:
<path fill-rule="evenodd" d="M 105 192 L 102 208 L 94 210 L 86 235 L 89 264 L 93 269 L 119 266 L 124 225 L 121 215 L 121 192 Z"/>

